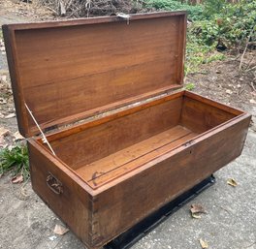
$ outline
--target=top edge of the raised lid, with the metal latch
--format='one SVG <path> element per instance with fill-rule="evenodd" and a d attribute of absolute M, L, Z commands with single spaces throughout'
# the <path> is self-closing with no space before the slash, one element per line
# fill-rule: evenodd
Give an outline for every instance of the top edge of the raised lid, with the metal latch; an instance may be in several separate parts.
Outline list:
<path fill-rule="evenodd" d="M 153 12 L 145 14 L 132 14 L 130 15 L 130 22 L 133 20 L 140 20 L 145 18 L 159 18 L 168 16 L 185 16 L 186 11 L 176 11 L 176 12 Z M 97 24 L 97 23 L 109 23 L 109 22 L 125 22 L 126 19 L 122 19 L 118 16 L 97 16 L 89 18 L 78 18 L 73 20 L 51 20 L 46 22 L 33 22 L 33 23 L 14 23 L 8 24 L 12 30 L 26 30 L 26 29 L 38 29 L 38 28 L 55 28 L 55 27 L 67 27 L 76 25 L 87 25 L 87 24 Z"/>

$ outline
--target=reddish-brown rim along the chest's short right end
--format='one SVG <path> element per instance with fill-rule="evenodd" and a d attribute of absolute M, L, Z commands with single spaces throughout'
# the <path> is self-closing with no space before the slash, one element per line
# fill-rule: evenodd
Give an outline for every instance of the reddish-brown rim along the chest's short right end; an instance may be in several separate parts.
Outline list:
<path fill-rule="evenodd" d="M 220 102 L 217 102 L 217 101 L 214 101 L 210 98 L 207 98 L 207 97 L 204 97 L 200 94 L 195 94 L 193 92 L 190 92 L 190 91 L 187 91 L 187 90 L 184 90 L 184 96 L 188 97 L 188 98 L 191 98 L 193 100 L 197 100 L 197 101 L 200 101 L 200 102 L 203 102 L 211 107 L 214 107 L 214 108 L 217 108 L 217 109 L 222 109 L 226 112 L 230 112 L 234 115 L 240 115 L 242 113 L 246 113 L 244 112 L 243 110 L 241 109 L 235 109 L 235 108 L 232 108 L 232 107 L 229 107 L 225 104 L 222 104 Z"/>

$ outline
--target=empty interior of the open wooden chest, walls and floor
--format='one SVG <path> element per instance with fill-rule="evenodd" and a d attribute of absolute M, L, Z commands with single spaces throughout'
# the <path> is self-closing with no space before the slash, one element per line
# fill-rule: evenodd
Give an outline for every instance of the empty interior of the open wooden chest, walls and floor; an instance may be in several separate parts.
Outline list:
<path fill-rule="evenodd" d="M 56 133 L 48 141 L 67 168 L 97 189 L 241 113 L 179 92 Z"/>

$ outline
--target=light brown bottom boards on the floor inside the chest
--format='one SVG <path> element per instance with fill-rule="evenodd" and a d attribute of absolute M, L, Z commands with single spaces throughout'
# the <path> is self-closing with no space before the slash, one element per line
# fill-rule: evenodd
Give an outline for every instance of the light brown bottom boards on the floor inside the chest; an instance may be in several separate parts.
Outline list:
<path fill-rule="evenodd" d="M 120 173 L 140 167 L 141 162 L 139 163 L 138 159 L 141 159 L 142 157 L 147 159 L 149 153 L 155 154 L 155 150 L 160 153 L 159 150 L 161 149 L 162 151 L 164 149 L 163 147 L 169 146 L 169 148 L 171 148 L 172 146 L 176 146 L 178 143 L 182 143 L 184 140 L 188 140 L 196 136 L 196 134 L 193 136 L 189 135 L 191 135 L 191 131 L 181 126 L 176 126 L 147 140 L 143 140 L 115 152 L 108 157 L 100 159 L 89 165 L 85 165 L 78 169 L 77 172 L 85 181 L 89 181 L 92 187 L 95 187 L 98 186 L 100 182 L 104 182 L 102 177 L 103 175 L 104 178 L 108 180 L 108 178 L 116 177 L 116 175 Z M 150 157 L 154 158 L 154 156 L 151 155 Z M 131 164 L 131 167 L 129 167 L 129 164 Z M 124 171 L 120 171 L 120 168 L 123 168 Z M 108 174 L 107 178 L 106 174 Z"/>

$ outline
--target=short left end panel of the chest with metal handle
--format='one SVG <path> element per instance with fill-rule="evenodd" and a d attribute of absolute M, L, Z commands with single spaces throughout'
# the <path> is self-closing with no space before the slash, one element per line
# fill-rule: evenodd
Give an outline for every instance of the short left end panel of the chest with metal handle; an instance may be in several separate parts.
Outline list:
<path fill-rule="evenodd" d="M 65 168 L 34 140 L 29 140 L 28 148 L 33 190 L 80 237 L 83 243 L 90 246 L 92 221 L 91 196 L 88 193 L 88 187 L 84 183 L 80 184 L 79 177 Z M 48 187 L 49 173 L 62 183 L 60 194 L 55 194 Z"/>

